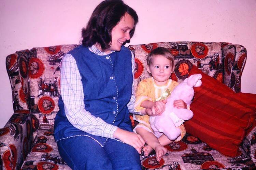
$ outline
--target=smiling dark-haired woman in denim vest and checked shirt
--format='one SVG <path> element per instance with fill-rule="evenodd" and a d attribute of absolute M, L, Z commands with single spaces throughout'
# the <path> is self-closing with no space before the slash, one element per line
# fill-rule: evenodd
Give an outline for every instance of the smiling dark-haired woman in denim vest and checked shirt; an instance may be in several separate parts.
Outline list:
<path fill-rule="evenodd" d="M 141 169 L 145 141 L 129 119 L 134 56 L 123 46 L 137 22 L 123 1 L 103 1 L 82 30 L 82 45 L 62 59 L 54 137 L 72 169 Z"/>

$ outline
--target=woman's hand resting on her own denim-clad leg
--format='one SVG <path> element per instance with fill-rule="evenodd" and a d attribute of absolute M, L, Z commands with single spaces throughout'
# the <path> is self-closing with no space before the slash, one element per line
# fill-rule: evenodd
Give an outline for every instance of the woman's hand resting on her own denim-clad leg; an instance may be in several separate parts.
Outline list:
<path fill-rule="evenodd" d="M 121 128 L 117 128 L 114 133 L 114 138 L 119 139 L 120 141 L 131 145 L 135 148 L 139 154 L 141 154 L 141 150 L 145 144 L 143 138 L 134 132 L 129 132 L 127 130 L 123 130 Z"/>

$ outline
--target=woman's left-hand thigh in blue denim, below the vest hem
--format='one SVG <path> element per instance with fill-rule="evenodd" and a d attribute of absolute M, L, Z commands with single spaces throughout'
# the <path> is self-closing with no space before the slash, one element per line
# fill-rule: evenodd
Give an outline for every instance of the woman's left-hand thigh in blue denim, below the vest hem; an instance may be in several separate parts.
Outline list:
<path fill-rule="evenodd" d="M 112 169 L 104 149 L 93 139 L 77 136 L 57 142 L 60 156 L 72 169 Z"/>

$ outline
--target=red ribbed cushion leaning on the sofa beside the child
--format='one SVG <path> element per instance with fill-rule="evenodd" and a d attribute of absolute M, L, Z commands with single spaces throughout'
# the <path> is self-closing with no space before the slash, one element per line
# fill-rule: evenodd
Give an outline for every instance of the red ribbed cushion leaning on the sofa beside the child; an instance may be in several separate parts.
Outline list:
<path fill-rule="evenodd" d="M 246 129 L 256 117 L 256 94 L 235 93 L 196 66 L 189 75 L 198 73 L 202 85 L 194 88 L 194 117 L 184 123 L 186 131 L 226 156 L 238 156 Z"/>

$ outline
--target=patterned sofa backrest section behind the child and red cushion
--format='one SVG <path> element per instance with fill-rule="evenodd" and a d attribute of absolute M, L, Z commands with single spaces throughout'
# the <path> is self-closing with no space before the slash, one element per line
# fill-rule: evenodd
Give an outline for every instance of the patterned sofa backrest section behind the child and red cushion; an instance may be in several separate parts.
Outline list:
<path fill-rule="evenodd" d="M 157 47 L 168 48 L 174 56 L 175 69 L 171 75 L 173 80 L 182 82 L 188 77 L 192 65 L 196 65 L 203 73 L 226 84 L 233 91 L 240 92 L 246 49 L 230 43 L 163 42 L 130 45 L 129 49 L 136 57 L 135 87 L 141 80 L 150 77 L 146 71 L 146 59 Z"/>

